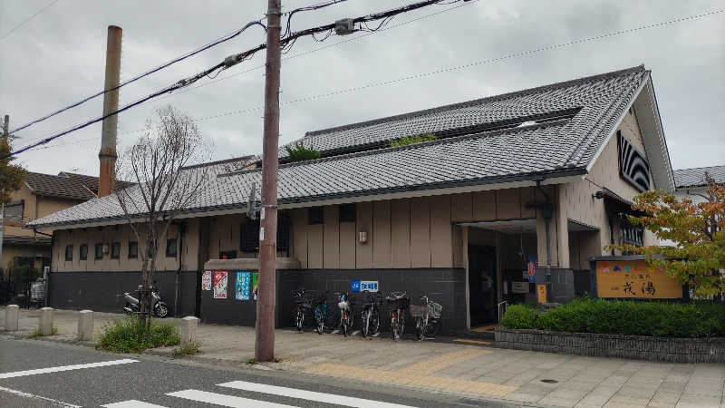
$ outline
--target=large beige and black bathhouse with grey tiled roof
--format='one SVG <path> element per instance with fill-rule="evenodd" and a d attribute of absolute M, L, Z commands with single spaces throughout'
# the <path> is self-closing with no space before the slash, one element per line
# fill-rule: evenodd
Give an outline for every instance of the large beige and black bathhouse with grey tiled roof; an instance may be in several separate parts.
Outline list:
<path fill-rule="evenodd" d="M 388 147 L 429 132 L 438 140 Z M 443 305 L 446 329 L 484 324 L 495 320 L 498 302 L 536 296 L 529 261 L 537 275 L 552 267 L 552 300 L 571 298 L 574 287 L 588 289 L 587 259 L 607 255 L 604 246 L 652 243 L 626 222 L 633 197 L 674 189 L 643 66 L 313 131 L 301 141 L 322 158 L 287 163 L 280 150 L 278 325 L 288 323 L 296 287 L 349 291 L 355 280 L 430 295 Z M 214 177 L 179 219 L 183 237 L 173 228 L 160 243 L 169 251 L 160 254 L 157 279 L 180 315 L 253 325 L 255 304 L 235 300 L 233 277 L 226 299 L 200 285 L 205 268 L 256 268 L 258 221 L 245 214 L 260 170 L 229 171 L 229 162 L 204 165 Z M 121 309 L 122 292 L 140 282 L 125 223 L 112 196 L 29 223 L 53 230 L 52 306 Z"/>

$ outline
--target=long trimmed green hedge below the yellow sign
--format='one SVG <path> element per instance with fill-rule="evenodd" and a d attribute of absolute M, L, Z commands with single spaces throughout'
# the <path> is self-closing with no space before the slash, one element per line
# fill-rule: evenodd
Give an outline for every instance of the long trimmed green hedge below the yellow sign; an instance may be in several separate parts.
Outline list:
<path fill-rule="evenodd" d="M 501 325 L 568 333 L 725 336 L 725 305 L 577 298 L 546 312 L 525 305 L 509 306 Z"/>

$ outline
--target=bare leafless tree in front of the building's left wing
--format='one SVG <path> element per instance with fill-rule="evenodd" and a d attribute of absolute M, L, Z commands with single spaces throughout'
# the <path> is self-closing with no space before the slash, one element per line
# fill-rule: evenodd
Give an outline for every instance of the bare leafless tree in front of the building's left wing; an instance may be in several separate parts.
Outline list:
<path fill-rule="evenodd" d="M 117 176 L 134 183 L 118 189 L 116 197 L 139 242 L 139 306 L 140 316 L 147 322 L 159 240 L 167 236 L 179 213 L 198 201 L 208 183 L 208 168 L 187 166 L 208 160 L 211 151 L 188 115 L 168 105 L 158 109 L 156 116 L 158 122 L 146 122 L 144 134 L 116 165 Z M 180 262 L 180 252 L 178 257 Z"/>

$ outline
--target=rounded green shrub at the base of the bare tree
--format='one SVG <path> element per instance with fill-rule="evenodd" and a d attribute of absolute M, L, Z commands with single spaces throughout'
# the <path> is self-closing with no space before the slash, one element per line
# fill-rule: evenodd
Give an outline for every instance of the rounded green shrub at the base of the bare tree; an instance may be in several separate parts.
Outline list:
<path fill-rule="evenodd" d="M 138 353 L 179 343 L 181 338 L 175 326 L 151 322 L 147 327 L 139 317 L 129 316 L 104 326 L 96 348 L 114 353 Z"/>

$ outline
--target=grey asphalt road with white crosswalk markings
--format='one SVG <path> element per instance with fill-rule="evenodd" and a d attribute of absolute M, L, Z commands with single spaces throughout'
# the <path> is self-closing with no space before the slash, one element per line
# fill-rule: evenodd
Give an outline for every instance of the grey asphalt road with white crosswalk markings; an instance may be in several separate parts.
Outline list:
<path fill-rule="evenodd" d="M 218 367 L 154 355 L 113 355 L 74 345 L 0 338 L 2 407 L 373 407 L 385 403 L 391 403 L 389 408 L 502 406 L 289 372 Z"/>

